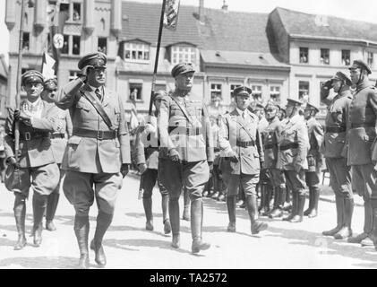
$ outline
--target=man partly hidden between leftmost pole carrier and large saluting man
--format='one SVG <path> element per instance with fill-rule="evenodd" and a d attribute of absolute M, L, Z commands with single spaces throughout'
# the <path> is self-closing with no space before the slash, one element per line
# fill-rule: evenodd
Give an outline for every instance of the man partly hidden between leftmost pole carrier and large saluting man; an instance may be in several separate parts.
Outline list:
<path fill-rule="evenodd" d="M 44 90 L 42 91 L 42 100 L 46 100 L 49 103 L 55 103 L 57 83 L 56 78 L 48 79 L 44 83 Z M 56 105 L 54 104 L 56 107 Z M 54 153 L 55 161 L 60 169 L 64 150 L 67 145 L 67 138 L 72 135 L 72 122 L 71 117 L 67 110 L 59 109 L 49 109 L 51 112 L 56 113 L 54 116 L 56 119 L 56 132 L 51 134 L 51 147 Z M 55 224 L 53 222 L 57 204 L 59 202 L 60 196 L 60 181 L 64 176 L 64 170 L 60 170 L 59 184 L 55 190 L 48 196 L 47 208 L 46 208 L 46 229 L 50 231 L 56 230 Z"/>

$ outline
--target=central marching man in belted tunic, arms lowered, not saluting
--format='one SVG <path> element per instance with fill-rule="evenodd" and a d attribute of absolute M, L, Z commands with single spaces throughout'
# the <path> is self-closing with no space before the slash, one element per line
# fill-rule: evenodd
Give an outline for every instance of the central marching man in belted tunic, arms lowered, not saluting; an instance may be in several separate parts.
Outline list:
<path fill-rule="evenodd" d="M 193 253 L 210 248 L 201 239 L 203 220 L 202 192 L 210 178 L 213 162 L 213 138 L 210 118 L 201 100 L 193 97 L 193 65 L 179 63 L 171 74 L 176 90 L 161 100 L 159 109 L 159 179 L 169 192 L 169 217 L 173 232 L 172 247 L 179 248 L 179 203 L 185 188 L 191 199 Z M 208 161 L 208 162 L 207 162 Z"/>

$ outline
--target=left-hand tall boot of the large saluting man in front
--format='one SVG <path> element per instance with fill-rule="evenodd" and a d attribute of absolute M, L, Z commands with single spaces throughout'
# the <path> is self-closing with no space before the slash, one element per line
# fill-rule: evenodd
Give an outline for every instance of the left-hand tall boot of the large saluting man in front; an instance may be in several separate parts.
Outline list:
<path fill-rule="evenodd" d="M 80 260 L 78 267 L 81 269 L 87 269 L 89 267 L 89 216 L 74 216 L 74 234 L 76 235 L 77 243 L 80 249 Z"/>

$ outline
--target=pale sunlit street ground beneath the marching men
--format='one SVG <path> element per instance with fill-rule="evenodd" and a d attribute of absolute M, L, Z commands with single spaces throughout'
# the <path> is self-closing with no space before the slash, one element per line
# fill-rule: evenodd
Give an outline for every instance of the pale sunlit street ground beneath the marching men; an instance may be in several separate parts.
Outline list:
<path fill-rule="evenodd" d="M 322 187 L 319 215 L 304 218 L 304 222 L 290 223 L 270 220 L 269 229 L 251 235 L 247 212 L 237 209 L 237 231 L 227 232 L 227 205 L 204 198 L 203 239 L 211 243 L 209 250 L 198 255 L 191 253 L 190 222 L 181 221 L 181 248 L 170 247 L 171 236 L 163 233 L 160 195 L 153 192 L 155 230 L 145 230 L 145 217 L 138 200 L 139 178 L 130 174 L 124 178 L 119 192 L 114 221 L 103 241 L 108 269 L 264 269 L 264 268 L 376 268 L 377 251 L 362 248 L 347 240 L 336 240 L 321 235 L 322 230 L 335 226 L 336 213 L 330 187 Z M 331 198 L 332 197 L 332 198 Z M 362 199 L 356 197 L 352 226 L 355 233 L 363 229 Z M 30 197 L 31 198 L 31 197 Z M 56 212 L 56 231 L 43 231 L 39 248 L 28 245 L 13 250 L 17 232 L 13 218 L 13 194 L 0 185 L 0 268 L 73 269 L 79 250 L 73 233 L 73 206 L 61 193 Z M 361 205 L 360 205 L 361 203 Z M 180 202 L 181 213 L 183 198 Z M 307 202 L 306 202 L 307 206 Z M 27 202 L 27 230 L 31 230 L 31 201 Z M 97 207 L 90 210 L 90 239 L 96 226 Z M 90 268 L 98 266 L 90 251 Z"/>

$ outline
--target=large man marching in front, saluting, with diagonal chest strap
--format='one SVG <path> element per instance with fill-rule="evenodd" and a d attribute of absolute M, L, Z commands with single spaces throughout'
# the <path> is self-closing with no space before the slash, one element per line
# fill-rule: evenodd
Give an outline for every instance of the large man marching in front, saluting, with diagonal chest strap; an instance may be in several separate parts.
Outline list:
<path fill-rule="evenodd" d="M 79 267 L 89 266 L 90 206 L 99 213 L 90 248 L 98 265 L 106 265 L 102 239 L 110 226 L 117 192 L 131 162 L 130 138 L 122 100 L 104 87 L 107 57 L 94 53 L 78 63 L 82 76 L 59 91 L 56 105 L 72 115 L 73 135 L 68 139 L 62 168 L 64 195 L 75 209 L 74 232 L 80 248 Z"/>

